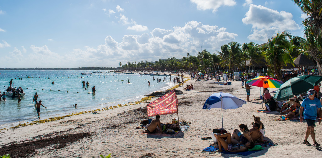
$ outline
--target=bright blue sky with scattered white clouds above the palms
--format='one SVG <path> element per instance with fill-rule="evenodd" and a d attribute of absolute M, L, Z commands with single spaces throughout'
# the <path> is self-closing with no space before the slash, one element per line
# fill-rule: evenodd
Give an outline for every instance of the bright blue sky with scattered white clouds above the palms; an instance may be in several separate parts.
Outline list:
<path fill-rule="evenodd" d="M 307 15 L 291 0 L 0 1 L 0 68 L 118 67 L 262 44 Z"/>

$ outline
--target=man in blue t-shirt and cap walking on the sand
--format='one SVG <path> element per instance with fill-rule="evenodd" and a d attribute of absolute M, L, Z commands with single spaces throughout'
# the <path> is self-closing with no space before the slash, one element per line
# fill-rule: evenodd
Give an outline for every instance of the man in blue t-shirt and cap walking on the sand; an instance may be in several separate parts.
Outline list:
<path fill-rule="evenodd" d="M 319 125 L 321 123 L 321 115 L 322 115 L 322 109 L 321 109 L 321 102 L 319 99 L 315 98 L 315 90 L 314 89 L 309 89 L 308 90 L 308 98 L 305 98 L 301 104 L 300 107 L 300 121 L 302 122 L 302 112 L 304 109 L 304 119 L 306 121 L 306 123 L 308 124 L 308 128 L 306 130 L 305 133 L 305 139 L 303 141 L 303 144 L 306 145 L 311 145 L 310 143 L 308 143 L 308 136 L 311 135 L 312 139 L 313 139 L 313 145 L 314 147 L 318 147 L 320 146 L 320 144 L 318 144 L 315 141 L 315 133 L 314 133 L 314 126 L 315 126 L 315 120 L 317 118 L 317 109 L 319 111 Z"/>

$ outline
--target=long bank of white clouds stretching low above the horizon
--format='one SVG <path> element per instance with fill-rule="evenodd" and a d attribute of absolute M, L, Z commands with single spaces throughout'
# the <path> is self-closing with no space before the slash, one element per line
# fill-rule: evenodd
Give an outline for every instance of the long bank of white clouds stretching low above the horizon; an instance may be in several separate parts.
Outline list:
<path fill-rule="evenodd" d="M 127 61 L 155 61 L 168 57 L 181 59 L 189 52 L 195 55 L 200 47 L 214 53 L 220 46 L 235 40 L 237 34 L 229 33 L 226 28 L 215 25 L 204 25 L 190 21 L 183 26 L 173 27 L 170 30 L 155 28 L 152 32 L 141 35 L 125 35 L 117 42 L 107 36 L 103 44 L 97 47 L 73 49 L 62 54 L 51 51 L 46 45 L 31 45 L 30 52 L 24 47 L 14 48 L 20 66 L 7 65 L 6 67 L 79 67 L 79 66 L 108 66 L 115 67 L 118 62 Z M 10 59 L 9 55 L 0 58 L 0 64 Z M 34 61 L 29 63 L 28 61 Z M 1 67 L 1 66 L 0 66 Z"/>

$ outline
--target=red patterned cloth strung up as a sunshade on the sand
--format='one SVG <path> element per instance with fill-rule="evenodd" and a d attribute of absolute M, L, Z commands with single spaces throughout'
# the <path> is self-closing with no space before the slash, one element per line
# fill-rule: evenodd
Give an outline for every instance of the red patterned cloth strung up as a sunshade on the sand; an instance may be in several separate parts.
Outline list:
<path fill-rule="evenodd" d="M 147 116 L 166 115 L 178 112 L 178 98 L 175 89 L 147 105 Z"/>

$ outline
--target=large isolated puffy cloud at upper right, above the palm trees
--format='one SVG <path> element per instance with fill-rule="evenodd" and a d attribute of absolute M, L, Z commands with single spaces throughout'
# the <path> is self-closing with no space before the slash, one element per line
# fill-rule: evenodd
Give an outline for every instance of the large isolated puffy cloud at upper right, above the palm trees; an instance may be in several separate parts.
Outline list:
<path fill-rule="evenodd" d="M 242 22 L 252 25 L 253 33 L 248 36 L 248 39 L 267 41 L 267 38 L 271 38 L 278 31 L 300 29 L 292 18 L 291 13 L 251 4 Z"/>

